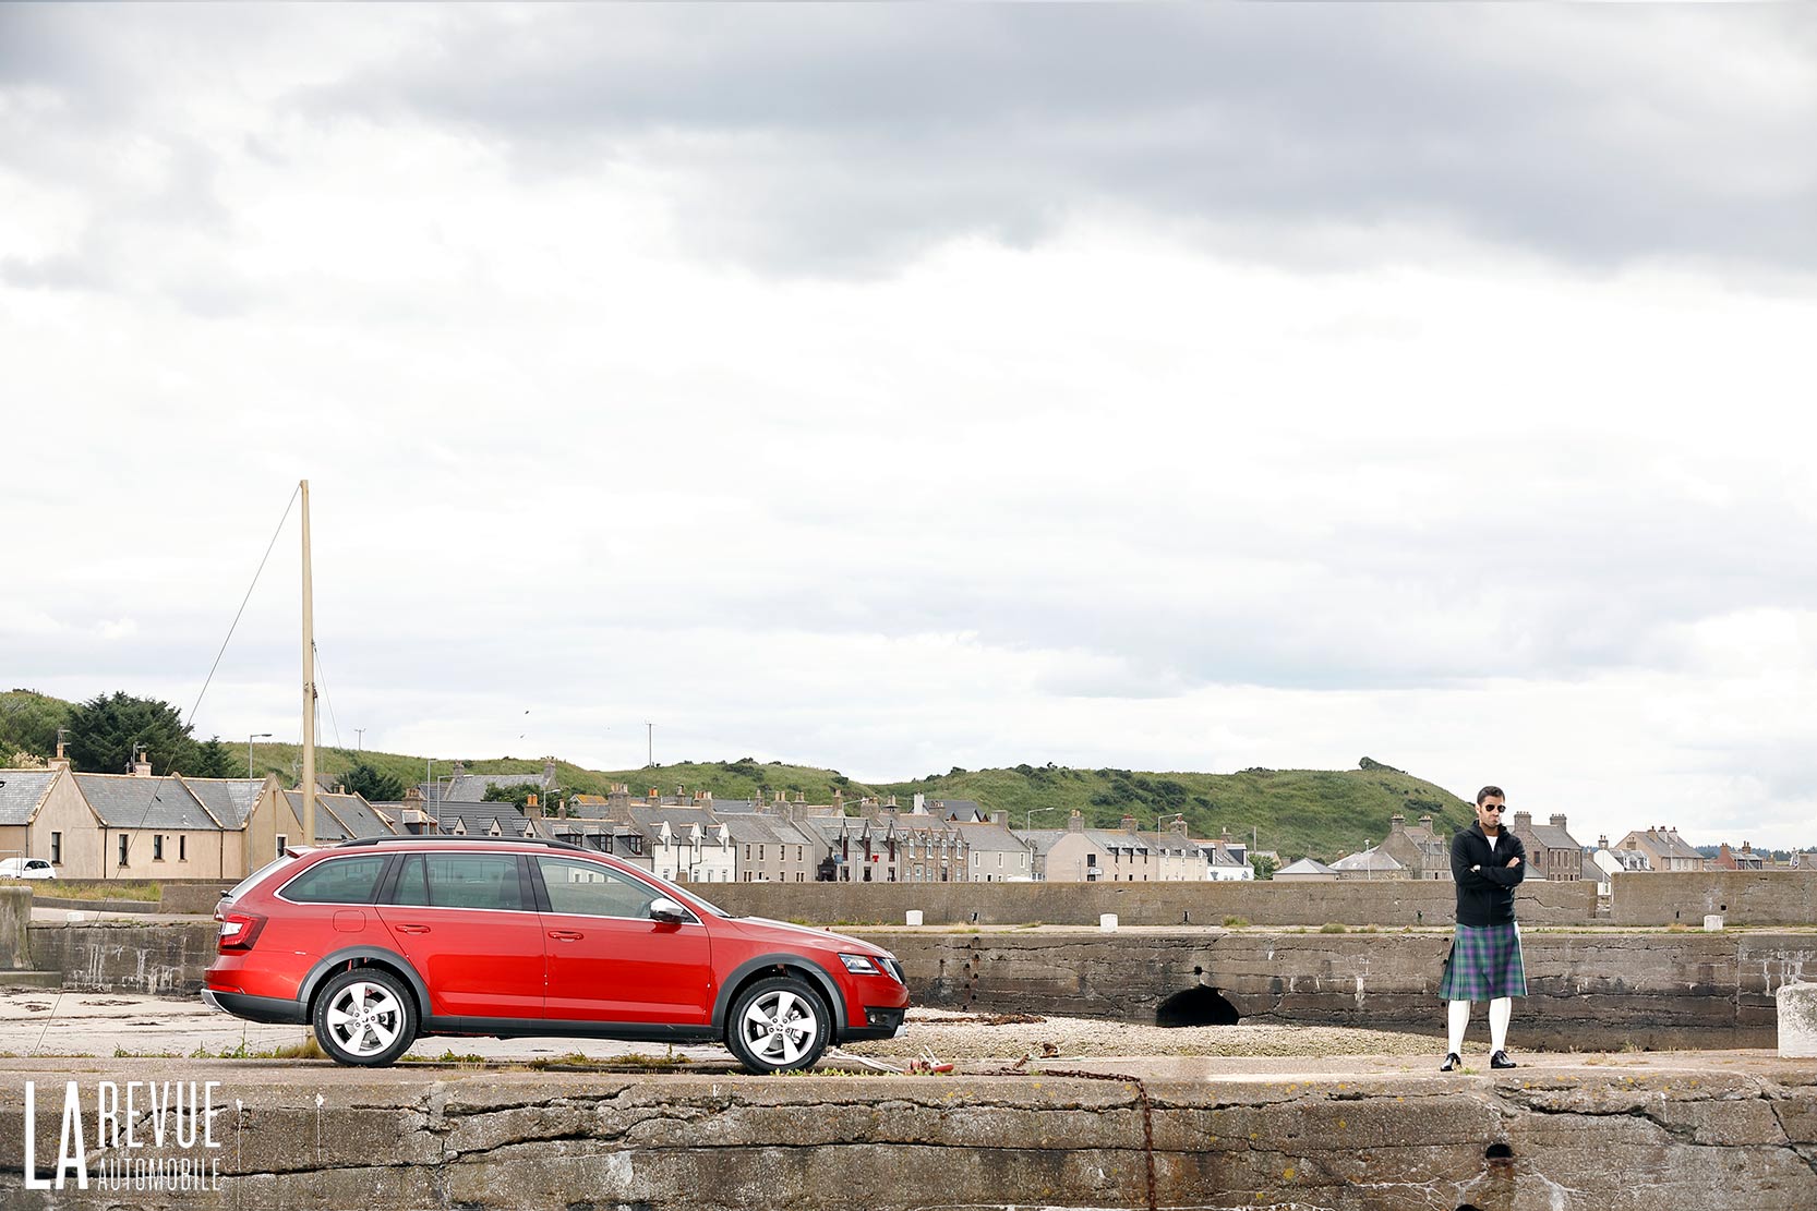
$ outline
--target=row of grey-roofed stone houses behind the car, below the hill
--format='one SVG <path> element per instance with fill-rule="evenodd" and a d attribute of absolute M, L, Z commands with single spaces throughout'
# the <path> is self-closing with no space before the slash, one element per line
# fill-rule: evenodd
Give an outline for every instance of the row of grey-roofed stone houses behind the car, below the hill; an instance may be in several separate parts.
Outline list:
<path fill-rule="evenodd" d="M 529 806 L 487 802 L 494 786 L 531 784 Z M 972 801 L 894 799 L 807 804 L 712 795 L 571 795 L 549 812 L 554 768 L 541 775 L 471 775 L 423 783 L 396 802 L 342 788 L 316 795 L 316 841 L 449 833 L 549 837 L 612 853 L 678 882 L 1161 882 L 1252 879 L 1246 850 L 1197 841 L 1183 819 L 1145 832 L 1010 830 Z M 62 755 L 44 770 L 0 770 L 0 857 L 45 857 L 62 879 L 242 879 L 302 841 L 302 793 L 274 777 L 76 773 Z"/>

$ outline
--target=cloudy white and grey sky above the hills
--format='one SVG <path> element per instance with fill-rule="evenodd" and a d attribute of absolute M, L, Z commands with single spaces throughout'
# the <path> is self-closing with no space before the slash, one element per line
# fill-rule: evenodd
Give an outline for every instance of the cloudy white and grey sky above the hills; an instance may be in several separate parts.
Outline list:
<path fill-rule="evenodd" d="M 1802 7 L 0 7 L 0 681 L 1817 844 Z"/>

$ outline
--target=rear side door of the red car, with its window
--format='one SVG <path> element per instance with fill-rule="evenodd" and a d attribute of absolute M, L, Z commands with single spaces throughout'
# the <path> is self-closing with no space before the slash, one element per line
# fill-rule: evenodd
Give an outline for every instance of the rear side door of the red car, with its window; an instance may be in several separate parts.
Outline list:
<path fill-rule="evenodd" d="M 516 853 L 407 853 L 378 917 L 431 1017 L 540 1019 L 543 930 Z"/>

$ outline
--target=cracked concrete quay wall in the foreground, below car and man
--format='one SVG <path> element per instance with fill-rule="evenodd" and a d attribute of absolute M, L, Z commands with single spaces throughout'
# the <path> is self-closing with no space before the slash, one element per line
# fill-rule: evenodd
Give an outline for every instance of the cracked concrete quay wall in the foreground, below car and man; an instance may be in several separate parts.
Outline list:
<path fill-rule="evenodd" d="M 182 1193 L 25 1189 L 24 1086 L 40 1178 L 62 1091 L 220 1082 L 218 1166 Z M 140 1089 L 142 1097 L 145 1095 Z M 1299 1207 L 1675 1211 L 1817 1206 L 1810 1066 L 1506 1077 L 614 1077 L 327 1062 L 144 1060 L 0 1069 L 0 1206 L 56 1207 Z M 91 1151 L 89 1169 L 118 1153 Z"/>

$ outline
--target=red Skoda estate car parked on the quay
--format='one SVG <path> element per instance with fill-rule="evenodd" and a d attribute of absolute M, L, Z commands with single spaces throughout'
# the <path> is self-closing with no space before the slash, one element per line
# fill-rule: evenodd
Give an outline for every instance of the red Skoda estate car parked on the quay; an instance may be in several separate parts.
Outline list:
<path fill-rule="evenodd" d="M 754 1073 L 901 1031 L 869 942 L 729 917 L 563 841 L 369 837 L 289 850 L 222 897 L 202 999 L 313 1024 L 342 1064 L 423 1035 L 718 1042 Z"/>

